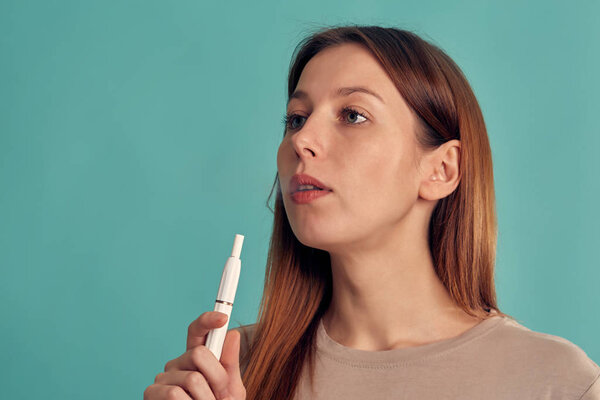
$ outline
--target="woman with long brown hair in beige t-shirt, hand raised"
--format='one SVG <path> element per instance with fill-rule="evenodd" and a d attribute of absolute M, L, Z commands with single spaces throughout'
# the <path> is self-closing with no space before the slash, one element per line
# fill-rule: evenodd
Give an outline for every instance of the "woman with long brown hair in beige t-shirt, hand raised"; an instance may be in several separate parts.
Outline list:
<path fill-rule="evenodd" d="M 224 320 L 201 315 L 146 398 L 600 399 L 583 350 L 498 309 L 490 146 L 442 50 L 324 29 L 288 98 L 258 321 L 219 363 L 203 344 Z"/>

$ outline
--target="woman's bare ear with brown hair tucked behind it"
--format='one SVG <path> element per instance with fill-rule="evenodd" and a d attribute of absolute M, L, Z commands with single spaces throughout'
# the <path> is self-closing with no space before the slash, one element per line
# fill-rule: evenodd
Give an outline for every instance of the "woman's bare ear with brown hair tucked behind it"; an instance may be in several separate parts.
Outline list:
<path fill-rule="evenodd" d="M 419 197 L 439 200 L 460 183 L 460 141 L 453 139 L 427 154 L 422 163 Z"/>

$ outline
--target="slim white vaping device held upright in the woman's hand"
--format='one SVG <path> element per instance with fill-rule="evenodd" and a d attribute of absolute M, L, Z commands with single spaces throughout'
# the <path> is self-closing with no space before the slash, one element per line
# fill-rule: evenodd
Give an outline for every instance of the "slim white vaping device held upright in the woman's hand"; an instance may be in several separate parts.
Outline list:
<path fill-rule="evenodd" d="M 240 279 L 240 269 L 242 267 L 240 253 L 242 252 L 243 242 L 244 236 L 236 234 L 235 239 L 233 240 L 231 256 L 227 259 L 225 268 L 223 268 L 223 276 L 221 276 L 221 284 L 219 285 L 217 301 L 215 302 L 215 311 L 227 314 L 227 322 L 222 327 L 208 332 L 208 336 L 206 337 L 206 347 L 212 351 L 215 357 L 217 357 L 217 360 L 221 359 L 223 342 L 225 341 L 225 335 L 227 334 L 227 327 L 229 326 L 229 319 L 231 317 L 231 310 L 233 309 L 233 298 L 235 297 L 238 280 Z"/>

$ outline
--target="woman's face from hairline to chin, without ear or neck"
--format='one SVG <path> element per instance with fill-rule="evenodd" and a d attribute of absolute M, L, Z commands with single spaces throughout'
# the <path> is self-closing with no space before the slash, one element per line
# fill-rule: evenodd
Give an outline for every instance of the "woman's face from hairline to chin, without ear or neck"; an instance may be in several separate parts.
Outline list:
<path fill-rule="evenodd" d="M 337 93 L 347 87 L 367 88 L 381 99 Z M 415 118 L 385 70 L 358 44 L 315 55 L 302 71 L 299 92 L 288 103 L 289 124 L 277 152 L 291 228 L 301 243 L 326 251 L 376 246 L 418 199 Z M 317 178 L 332 192 L 295 203 L 290 179 L 296 173 Z"/>

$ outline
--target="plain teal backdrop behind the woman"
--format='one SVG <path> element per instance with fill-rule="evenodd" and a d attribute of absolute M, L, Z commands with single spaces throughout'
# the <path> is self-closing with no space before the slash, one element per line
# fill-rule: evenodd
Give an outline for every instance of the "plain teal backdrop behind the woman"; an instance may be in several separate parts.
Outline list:
<path fill-rule="evenodd" d="M 465 72 L 491 140 L 500 308 L 600 360 L 600 3 L 3 1 L 4 398 L 141 398 L 212 310 L 255 321 L 292 51 L 410 29 Z"/>

